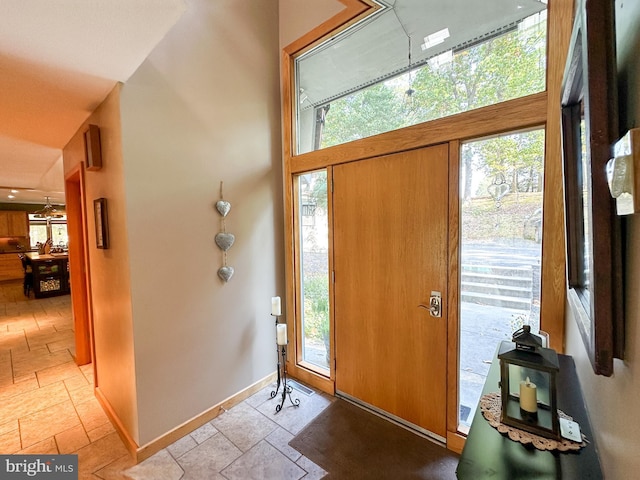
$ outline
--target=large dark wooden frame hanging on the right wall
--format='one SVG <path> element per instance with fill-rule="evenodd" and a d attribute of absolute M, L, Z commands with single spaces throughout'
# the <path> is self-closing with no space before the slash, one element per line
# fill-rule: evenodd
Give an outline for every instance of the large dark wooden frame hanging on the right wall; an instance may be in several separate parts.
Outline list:
<path fill-rule="evenodd" d="M 568 301 L 596 374 L 622 358 L 622 241 L 605 166 L 618 134 L 613 2 L 581 2 L 562 87 Z"/>

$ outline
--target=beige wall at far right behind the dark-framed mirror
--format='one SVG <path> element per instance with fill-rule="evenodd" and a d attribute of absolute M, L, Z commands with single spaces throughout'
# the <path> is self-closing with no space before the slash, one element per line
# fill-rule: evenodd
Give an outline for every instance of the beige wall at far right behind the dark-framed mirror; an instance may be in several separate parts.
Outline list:
<path fill-rule="evenodd" d="M 640 3 L 616 2 L 620 132 L 640 127 Z M 610 378 L 593 374 L 572 312 L 567 315 L 567 353 L 573 355 L 606 478 L 634 478 L 640 471 L 640 219 L 627 220 L 625 250 L 625 359 Z"/>

